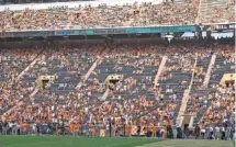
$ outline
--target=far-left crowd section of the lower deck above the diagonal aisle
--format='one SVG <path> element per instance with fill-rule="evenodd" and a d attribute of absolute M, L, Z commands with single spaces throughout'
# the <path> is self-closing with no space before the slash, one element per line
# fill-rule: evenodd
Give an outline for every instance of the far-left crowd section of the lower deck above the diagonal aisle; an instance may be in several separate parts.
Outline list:
<path fill-rule="evenodd" d="M 25 83 L 22 88 L 23 83 L 18 82 L 18 78 L 37 56 L 38 52 L 37 48 L 35 48 L 34 53 L 22 48 L 0 50 L 0 113 L 3 113 L 18 103 L 20 99 L 32 92 L 34 83 Z"/>

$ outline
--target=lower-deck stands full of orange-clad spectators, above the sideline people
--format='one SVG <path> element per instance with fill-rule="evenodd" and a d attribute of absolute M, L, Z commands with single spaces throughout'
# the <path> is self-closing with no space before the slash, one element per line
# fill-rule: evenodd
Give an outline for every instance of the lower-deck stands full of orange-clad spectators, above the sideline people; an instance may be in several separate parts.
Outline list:
<path fill-rule="evenodd" d="M 143 43 L 113 46 L 70 44 L 70 46 L 33 49 L 32 54 L 25 53 L 31 53 L 32 49 L 25 52 L 16 49 L 15 53 L 14 49 L 5 49 L 7 53 L 5 50 L 1 53 L 1 64 L 4 64 L 4 67 L 16 68 L 11 71 L 7 71 L 8 68 L 2 70 L 4 77 L 1 78 L 1 83 L 7 84 L 4 79 L 9 79 L 19 88 L 11 87 L 10 97 L 1 99 L 3 106 L 1 113 L 21 102 L 11 111 L 7 111 L 4 116 L 8 121 L 64 122 L 68 125 L 74 122 L 103 124 L 108 118 L 124 117 L 133 125 L 164 126 L 170 122 L 175 123 L 184 90 L 189 89 L 190 80 L 193 78 L 187 113 L 196 114 L 194 123 L 202 120 L 200 122 L 205 122 L 204 125 L 215 123 L 222 125 L 223 118 L 232 122 L 234 89 L 232 86 L 225 89 L 217 84 L 223 74 L 232 72 L 234 69 L 234 58 L 231 55 L 233 46 L 214 44 L 211 47 L 203 45 L 200 49 L 198 46 L 201 45 L 187 44 L 183 47 Z M 223 47 L 226 49 L 222 50 Z M 15 60 L 19 60 L 16 53 L 25 57 L 25 60 L 21 58 L 21 66 L 15 66 Z M 194 69 L 192 65 L 195 61 L 195 53 L 199 54 L 199 58 Z M 213 54 L 216 55 L 216 60 L 211 71 L 210 86 L 206 88 L 203 86 L 203 80 Z M 164 56 L 167 56 L 167 61 L 154 88 L 155 77 Z M 35 58 L 37 59 L 35 65 L 30 67 L 19 81 L 14 81 Z M 85 75 L 97 59 L 100 61 L 85 80 Z M 108 77 L 114 74 L 121 79 L 114 86 L 109 86 Z M 55 75 L 56 79 L 45 84 L 42 90 L 35 81 L 45 75 Z M 7 87 L 1 89 L 9 90 Z M 38 91 L 30 97 L 35 89 Z M 228 95 L 228 92 L 232 94 Z M 2 92 L 1 97 L 4 94 L 7 92 Z M 228 99 L 217 99 L 225 94 Z M 5 105 L 9 102 L 10 104 Z M 223 116 L 220 115 L 211 122 L 212 117 L 209 114 L 213 116 L 216 114 L 210 110 L 217 112 L 225 105 L 227 105 L 226 114 L 223 111 Z"/>

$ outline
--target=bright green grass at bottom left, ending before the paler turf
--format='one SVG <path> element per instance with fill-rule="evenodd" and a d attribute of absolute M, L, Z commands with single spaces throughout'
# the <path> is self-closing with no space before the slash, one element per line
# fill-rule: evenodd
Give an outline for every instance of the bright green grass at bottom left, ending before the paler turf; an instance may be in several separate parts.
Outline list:
<path fill-rule="evenodd" d="M 0 147 L 135 147 L 156 142 L 151 138 L 0 136 Z"/>

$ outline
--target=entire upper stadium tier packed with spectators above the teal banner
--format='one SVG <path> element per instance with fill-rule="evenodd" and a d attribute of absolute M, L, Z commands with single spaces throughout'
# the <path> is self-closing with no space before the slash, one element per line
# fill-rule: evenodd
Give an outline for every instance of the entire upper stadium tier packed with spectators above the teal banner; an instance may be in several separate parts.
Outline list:
<path fill-rule="evenodd" d="M 212 4 L 214 2 L 214 4 Z M 1 31 L 234 23 L 234 1 L 145 2 L 121 5 L 74 3 L 1 5 Z M 115 4 L 115 3 L 114 3 Z M 217 18 L 217 19 L 216 19 Z"/>

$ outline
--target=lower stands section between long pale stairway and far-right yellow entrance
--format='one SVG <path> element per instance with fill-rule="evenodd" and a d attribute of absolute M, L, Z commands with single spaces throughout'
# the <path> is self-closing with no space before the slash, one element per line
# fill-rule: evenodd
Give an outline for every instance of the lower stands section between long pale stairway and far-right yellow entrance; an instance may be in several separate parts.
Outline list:
<path fill-rule="evenodd" d="M 204 111 L 207 110 L 207 108 L 211 105 L 211 101 L 212 99 L 214 99 L 215 97 L 215 92 L 217 93 L 217 89 L 218 89 L 218 84 L 222 80 L 222 77 L 224 74 L 234 74 L 233 69 L 233 63 L 234 63 L 234 58 L 231 58 L 231 53 L 233 53 L 233 46 L 227 46 L 224 53 L 221 53 L 221 48 L 224 48 L 224 46 L 218 46 L 218 47 L 214 47 L 214 48 L 210 48 L 209 53 L 206 53 L 204 56 L 206 56 L 207 59 L 207 64 L 210 63 L 210 57 L 213 56 L 213 53 L 216 53 L 216 60 L 215 60 L 215 65 L 212 69 L 211 72 L 211 78 L 210 78 L 210 87 L 204 87 L 202 84 L 200 84 L 200 87 L 196 87 L 196 89 L 194 89 L 193 87 L 193 91 L 192 91 L 192 97 L 189 101 L 189 112 L 194 112 L 196 114 L 196 120 L 195 123 L 198 123 L 198 121 L 200 121 L 201 116 L 203 115 Z M 214 49 L 216 49 L 214 52 Z M 227 57 L 227 58 L 224 58 Z M 205 65 L 205 64 L 204 64 Z M 201 79 L 198 81 L 203 81 L 204 78 L 204 72 L 206 71 L 206 68 L 204 68 L 204 65 L 200 66 L 202 69 L 200 69 L 199 71 L 199 76 L 196 77 L 201 77 Z M 221 69 L 220 69 L 221 68 Z M 195 105 L 195 106 L 193 106 Z M 200 110 L 201 113 L 198 113 Z"/>

